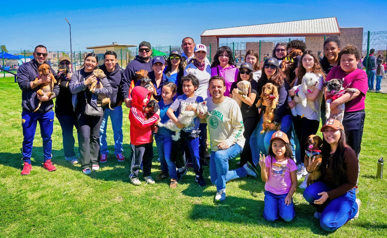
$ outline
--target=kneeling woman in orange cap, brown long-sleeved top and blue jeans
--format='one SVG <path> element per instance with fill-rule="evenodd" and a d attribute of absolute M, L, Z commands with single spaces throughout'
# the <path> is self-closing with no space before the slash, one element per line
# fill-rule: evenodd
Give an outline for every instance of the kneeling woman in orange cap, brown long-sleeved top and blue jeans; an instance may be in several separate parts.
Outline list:
<path fill-rule="evenodd" d="M 323 132 L 322 179 L 304 191 L 304 198 L 317 208 L 315 217 L 326 231 L 334 231 L 347 221 L 359 216 L 360 199 L 356 198 L 358 158 L 346 144 L 344 127 L 329 119 L 320 130 Z M 309 159 L 308 171 L 314 159 Z M 319 164 L 319 163 L 317 163 Z"/>

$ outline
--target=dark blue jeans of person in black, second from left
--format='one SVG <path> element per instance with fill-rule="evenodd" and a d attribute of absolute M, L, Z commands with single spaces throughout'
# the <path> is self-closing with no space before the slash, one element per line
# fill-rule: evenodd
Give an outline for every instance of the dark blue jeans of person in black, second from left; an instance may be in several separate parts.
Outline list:
<path fill-rule="evenodd" d="M 79 143 L 79 132 L 78 132 L 78 122 L 77 122 L 77 116 L 75 115 L 56 115 L 58 118 L 58 122 L 60 124 L 60 127 L 62 128 L 62 137 L 63 137 L 63 153 L 65 154 L 65 159 L 70 161 L 73 159 L 77 159 L 77 156 L 75 156 L 74 152 L 74 127 L 77 129 L 77 138 L 78 138 L 78 145 Z"/>

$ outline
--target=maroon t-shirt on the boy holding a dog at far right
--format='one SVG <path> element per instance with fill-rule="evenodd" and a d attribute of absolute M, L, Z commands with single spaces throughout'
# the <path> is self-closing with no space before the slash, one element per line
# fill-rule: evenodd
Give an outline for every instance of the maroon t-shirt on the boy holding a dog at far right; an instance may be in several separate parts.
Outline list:
<path fill-rule="evenodd" d="M 368 90 L 368 78 L 364 70 L 356 68 L 351 73 L 346 74 L 340 66 L 333 67 L 327 78 L 325 79 L 328 82 L 331 79 L 343 79 L 344 78 L 344 89 L 355 88 L 360 91 L 359 96 L 352 99 L 351 101 L 345 103 L 344 111 L 359 111 L 365 108 L 365 94 Z"/>

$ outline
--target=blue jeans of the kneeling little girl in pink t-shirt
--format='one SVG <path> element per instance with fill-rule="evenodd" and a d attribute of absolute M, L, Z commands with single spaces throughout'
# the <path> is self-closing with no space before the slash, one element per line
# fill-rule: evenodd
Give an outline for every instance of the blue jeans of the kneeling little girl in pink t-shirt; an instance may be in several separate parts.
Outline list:
<path fill-rule="evenodd" d="M 265 207 L 264 207 L 264 218 L 273 222 L 279 217 L 285 221 L 293 220 L 295 216 L 293 198 L 291 199 L 291 204 L 285 204 L 285 198 L 288 193 L 277 195 L 269 191 L 265 191 Z"/>

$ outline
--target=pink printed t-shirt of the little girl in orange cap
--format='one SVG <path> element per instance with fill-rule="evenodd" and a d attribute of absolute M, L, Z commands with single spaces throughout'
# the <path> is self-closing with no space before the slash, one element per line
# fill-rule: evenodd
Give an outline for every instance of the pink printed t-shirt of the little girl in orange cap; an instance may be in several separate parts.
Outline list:
<path fill-rule="evenodd" d="M 265 190 L 277 195 L 286 194 L 290 191 L 290 172 L 297 170 L 293 159 L 285 159 L 278 162 L 272 156 L 266 156 L 266 167 L 269 168 L 269 178 L 265 183 Z"/>

